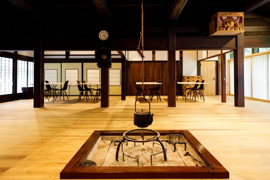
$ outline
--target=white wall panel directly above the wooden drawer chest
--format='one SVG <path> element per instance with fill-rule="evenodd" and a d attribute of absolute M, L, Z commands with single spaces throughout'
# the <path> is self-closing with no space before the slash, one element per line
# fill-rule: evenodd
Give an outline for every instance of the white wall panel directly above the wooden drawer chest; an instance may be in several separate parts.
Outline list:
<path fill-rule="evenodd" d="M 197 76 L 197 51 L 183 51 L 183 76 Z"/>

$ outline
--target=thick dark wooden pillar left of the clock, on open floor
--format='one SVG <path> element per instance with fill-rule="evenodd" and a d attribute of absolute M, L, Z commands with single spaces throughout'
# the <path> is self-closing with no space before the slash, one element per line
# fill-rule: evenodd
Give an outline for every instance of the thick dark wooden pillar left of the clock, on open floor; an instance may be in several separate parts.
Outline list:
<path fill-rule="evenodd" d="M 34 107 L 44 107 L 44 50 L 42 50 L 41 23 L 38 21 L 34 49 Z"/>

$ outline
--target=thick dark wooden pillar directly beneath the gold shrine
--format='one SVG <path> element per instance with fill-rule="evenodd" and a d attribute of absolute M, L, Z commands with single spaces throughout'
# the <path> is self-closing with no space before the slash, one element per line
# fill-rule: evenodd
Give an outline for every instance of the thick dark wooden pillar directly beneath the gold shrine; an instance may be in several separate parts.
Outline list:
<path fill-rule="evenodd" d="M 244 95 L 244 33 L 236 36 L 234 50 L 234 106 L 245 107 Z"/>

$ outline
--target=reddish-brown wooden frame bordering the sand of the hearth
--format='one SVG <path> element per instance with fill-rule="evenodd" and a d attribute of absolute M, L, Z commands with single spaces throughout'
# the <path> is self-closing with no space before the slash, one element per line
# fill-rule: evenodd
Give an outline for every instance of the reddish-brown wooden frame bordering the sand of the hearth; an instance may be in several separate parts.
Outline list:
<path fill-rule="evenodd" d="M 80 166 L 94 147 L 100 136 L 122 137 L 125 131 L 94 131 L 82 145 L 79 151 L 60 172 L 60 179 L 148 179 L 148 178 L 229 178 L 229 172 L 220 162 L 188 131 L 188 130 L 158 130 L 160 136 L 183 133 L 186 141 L 208 164 L 214 164 L 215 168 L 195 166 L 149 166 L 149 167 L 83 167 Z M 140 136 L 140 132 L 129 135 Z M 144 133 L 151 135 L 151 133 Z"/>

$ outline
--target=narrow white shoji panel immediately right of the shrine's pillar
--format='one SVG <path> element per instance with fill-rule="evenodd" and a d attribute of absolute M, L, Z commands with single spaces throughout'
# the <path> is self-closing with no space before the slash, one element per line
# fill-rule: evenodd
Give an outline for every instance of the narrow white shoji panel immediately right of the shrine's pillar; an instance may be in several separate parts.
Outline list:
<path fill-rule="evenodd" d="M 251 57 L 244 59 L 244 91 L 246 97 L 251 97 Z"/>

